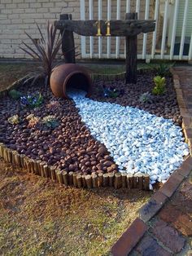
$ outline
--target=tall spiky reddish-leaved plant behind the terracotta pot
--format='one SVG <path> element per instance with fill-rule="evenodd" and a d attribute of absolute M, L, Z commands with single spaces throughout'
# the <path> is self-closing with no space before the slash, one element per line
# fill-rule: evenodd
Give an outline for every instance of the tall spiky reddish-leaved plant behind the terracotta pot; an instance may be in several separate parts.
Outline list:
<path fill-rule="evenodd" d="M 25 32 L 28 38 L 33 42 L 35 49 L 33 49 L 33 46 L 29 46 L 23 41 L 22 42 L 27 49 L 21 46 L 20 49 L 25 51 L 28 55 L 32 56 L 34 60 L 41 62 L 41 72 L 32 74 L 32 77 L 34 77 L 33 83 L 37 80 L 37 78 L 44 77 L 45 84 L 48 85 L 50 82 L 50 73 L 55 67 L 54 60 L 59 52 L 62 38 L 60 38 L 58 35 L 58 38 L 56 39 L 57 29 L 55 28 L 54 24 L 49 22 L 49 20 L 46 23 L 46 37 L 43 36 L 38 24 L 37 29 L 41 36 L 39 40 L 32 38 L 28 33 Z M 28 82 L 29 79 L 31 79 L 31 77 L 28 78 L 25 82 Z"/>

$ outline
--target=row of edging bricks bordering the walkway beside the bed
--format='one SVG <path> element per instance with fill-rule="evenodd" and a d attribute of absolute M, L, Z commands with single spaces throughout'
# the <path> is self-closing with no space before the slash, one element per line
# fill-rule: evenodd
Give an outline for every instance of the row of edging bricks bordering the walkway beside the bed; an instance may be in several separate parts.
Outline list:
<path fill-rule="evenodd" d="M 146 233 L 148 227 L 146 223 L 155 216 L 168 201 L 177 188 L 184 181 L 184 179 L 190 174 L 192 169 L 192 138 L 188 131 L 189 126 L 192 125 L 192 118 L 185 104 L 183 93 L 181 90 L 181 84 L 179 76 L 174 68 L 170 69 L 173 78 L 173 85 L 177 94 L 177 103 L 180 108 L 182 120 L 182 129 L 185 135 L 185 142 L 189 144 L 190 156 L 183 161 L 180 168 L 175 170 L 168 181 L 157 191 L 151 199 L 142 206 L 139 210 L 139 218 L 136 218 L 129 228 L 123 233 L 122 236 L 116 241 L 111 248 L 113 256 L 127 256 L 137 243 L 142 239 Z"/>

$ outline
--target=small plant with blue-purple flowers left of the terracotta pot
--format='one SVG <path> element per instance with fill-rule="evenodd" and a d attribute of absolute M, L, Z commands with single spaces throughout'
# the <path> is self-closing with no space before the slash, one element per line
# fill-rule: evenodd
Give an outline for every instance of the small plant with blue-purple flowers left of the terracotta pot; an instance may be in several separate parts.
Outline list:
<path fill-rule="evenodd" d="M 41 93 L 37 95 L 28 95 L 20 97 L 20 103 L 24 107 L 38 108 L 43 103 L 43 97 Z"/>

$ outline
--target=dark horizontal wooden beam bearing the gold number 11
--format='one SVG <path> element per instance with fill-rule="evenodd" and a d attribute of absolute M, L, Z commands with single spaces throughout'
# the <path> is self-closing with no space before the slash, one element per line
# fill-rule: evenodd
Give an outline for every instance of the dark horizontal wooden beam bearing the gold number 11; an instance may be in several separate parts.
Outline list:
<path fill-rule="evenodd" d="M 155 20 L 56 20 L 55 26 L 81 36 L 130 37 L 154 31 Z"/>

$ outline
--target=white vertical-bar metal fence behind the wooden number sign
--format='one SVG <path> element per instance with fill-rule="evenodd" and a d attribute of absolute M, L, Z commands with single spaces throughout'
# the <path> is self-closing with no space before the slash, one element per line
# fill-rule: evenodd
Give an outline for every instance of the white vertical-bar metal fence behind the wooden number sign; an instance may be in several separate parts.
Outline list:
<path fill-rule="evenodd" d="M 121 12 L 135 11 L 139 14 L 141 8 L 143 8 L 143 2 L 145 2 L 145 20 L 149 19 L 150 13 L 150 2 L 151 0 L 126 0 L 125 7 L 122 7 L 123 0 L 116 0 L 116 20 L 120 20 Z M 81 20 L 86 19 L 93 20 L 95 13 L 97 14 L 98 20 L 103 19 L 103 3 L 107 4 L 107 20 L 111 20 L 111 3 L 112 0 L 80 0 L 81 2 Z M 97 2 L 97 7 L 94 7 L 94 3 Z M 107 2 L 107 3 L 106 3 Z M 142 2 L 142 4 L 141 4 Z M 192 60 L 192 30 L 190 37 L 188 36 L 188 47 L 187 54 L 183 54 L 185 47 L 186 28 L 189 31 L 190 16 L 192 13 L 192 0 L 155 0 L 154 6 L 154 20 L 156 20 L 156 29 L 152 36 L 151 51 L 146 52 L 147 34 L 145 33 L 142 37 L 142 52 L 137 55 L 138 59 L 142 60 Z M 131 6 L 132 4 L 132 6 Z M 135 10 L 133 10 L 133 4 Z M 88 7 L 87 7 L 88 6 Z M 181 7 L 183 11 L 181 13 Z M 113 6 L 114 8 L 114 6 Z M 132 8 L 132 9 L 131 9 Z M 143 11 L 143 10 L 142 10 Z M 88 12 L 88 17 L 87 13 Z M 157 42 L 157 28 L 159 15 L 163 14 L 162 30 L 160 34 L 160 40 Z M 170 18 L 171 17 L 171 18 Z M 177 20 L 181 20 L 181 35 L 177 37 Z M 188 27 L 187 27 L 188 26 Z M 191 28 L 191 27 L 190 27 Z M 175 51 L 175 43 L 177 39 L 177 54 Z M 89 40 L 89 44 L 87 44 Z M 178 42 L 179 40 L 179 42 Z M 169 41 L 169 45 L 168 45 Z M 157 46 L 158 45 L 158 46 Z M 98 38 L 98 51 L 94 51 L 94 38 L 81 37 L 81 55 L 82 58 L 98 58 L 98 59 L 124 59 L 124 53 L 120 52 L 120 38 L 116 38 L 116 49 L 111 51 L 111 38 L 107 38 L 107 52 L 103 52 L 103 38 Z"/>

